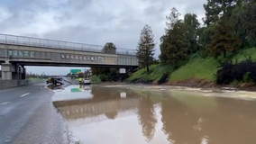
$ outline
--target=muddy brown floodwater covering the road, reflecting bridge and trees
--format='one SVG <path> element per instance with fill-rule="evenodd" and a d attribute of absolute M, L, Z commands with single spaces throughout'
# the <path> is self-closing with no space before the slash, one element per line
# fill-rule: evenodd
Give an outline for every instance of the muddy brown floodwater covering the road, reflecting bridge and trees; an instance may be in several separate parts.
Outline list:
<path fill-rule="evenodd" d="M 256 143 L 254 93 L 129 85 L 55 92 L 53 104 L 80 143 Z"/>

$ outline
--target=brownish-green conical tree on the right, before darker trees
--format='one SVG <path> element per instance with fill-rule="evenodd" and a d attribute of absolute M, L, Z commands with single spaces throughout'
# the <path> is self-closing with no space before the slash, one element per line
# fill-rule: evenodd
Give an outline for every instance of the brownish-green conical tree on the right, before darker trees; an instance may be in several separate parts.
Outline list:
<path fill-rule="evenodd" d="M 215 33 L 211 37 L 211 43 L 207 45 L 210 49 L 212 56 L 217 58 L 222 53 L 224 58 L 226 58 L 226 52 L 235 52 L 239 49 L 241 40 L 234 35 L 232 31 L 232 26 L 228 23 L 226 17 L 216 23 Z"/>

